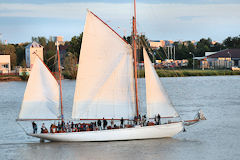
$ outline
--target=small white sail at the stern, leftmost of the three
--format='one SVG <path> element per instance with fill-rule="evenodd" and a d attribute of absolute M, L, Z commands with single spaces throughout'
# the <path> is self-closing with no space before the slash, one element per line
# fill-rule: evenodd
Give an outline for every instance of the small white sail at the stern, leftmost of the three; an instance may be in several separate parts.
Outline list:
<path fill-rule="evenodd" d="M 59 85 L 36 56 L 28 79 L 19 119 L 59 118 Z"/>

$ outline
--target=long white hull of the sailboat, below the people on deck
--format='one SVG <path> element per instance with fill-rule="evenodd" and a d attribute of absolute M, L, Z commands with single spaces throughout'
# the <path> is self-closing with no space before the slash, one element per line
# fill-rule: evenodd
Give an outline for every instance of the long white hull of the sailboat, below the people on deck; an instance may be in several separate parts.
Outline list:
<path fill-rule="evenodd" d="M 183 129 L 182 122 L 124 129 L 112 129 L 87 132 L 28 134 L 50 141 L 121 141 L 173 137 Z"/>

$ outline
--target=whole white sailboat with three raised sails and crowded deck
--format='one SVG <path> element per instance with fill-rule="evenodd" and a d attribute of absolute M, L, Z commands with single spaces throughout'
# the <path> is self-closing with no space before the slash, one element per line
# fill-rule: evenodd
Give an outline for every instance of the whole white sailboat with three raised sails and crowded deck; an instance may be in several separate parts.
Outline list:
<path fill-rule="evenodd" d="M 93 12 L 87 12 L 72 109 L 73 120 L 96 121 L 104 117 L 106 120 L 119 121 L 123 118 L 132 122 L 134 117 L 139 116 L 136 12 L 133 33 L 132 47 Z M 154 121 L 158 114 L 162 119 L 179 118 L 145 49 L 143 55 L 147 120 Z M 61 80 L 58 83 L 43 61 L 36 57 L 18 120 L 63 121 L 62 100 L 59 100 L 61 93 Z M 182 120 L 169 120 L 161 125 L 28 135 L 50 141 L 118 141 L 173 137 L 183 128 Z"/>

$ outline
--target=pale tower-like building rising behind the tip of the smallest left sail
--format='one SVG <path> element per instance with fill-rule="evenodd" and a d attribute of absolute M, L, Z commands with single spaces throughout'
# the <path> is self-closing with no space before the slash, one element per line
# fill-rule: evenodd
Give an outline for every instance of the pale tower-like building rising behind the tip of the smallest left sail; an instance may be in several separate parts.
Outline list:
<path fill-rule="evenodd" d="M 26 65 L 32 68 L 36 54 L 43 60 L 43 46 L 37 42 L 32 42 L 25 47 Z"/>

